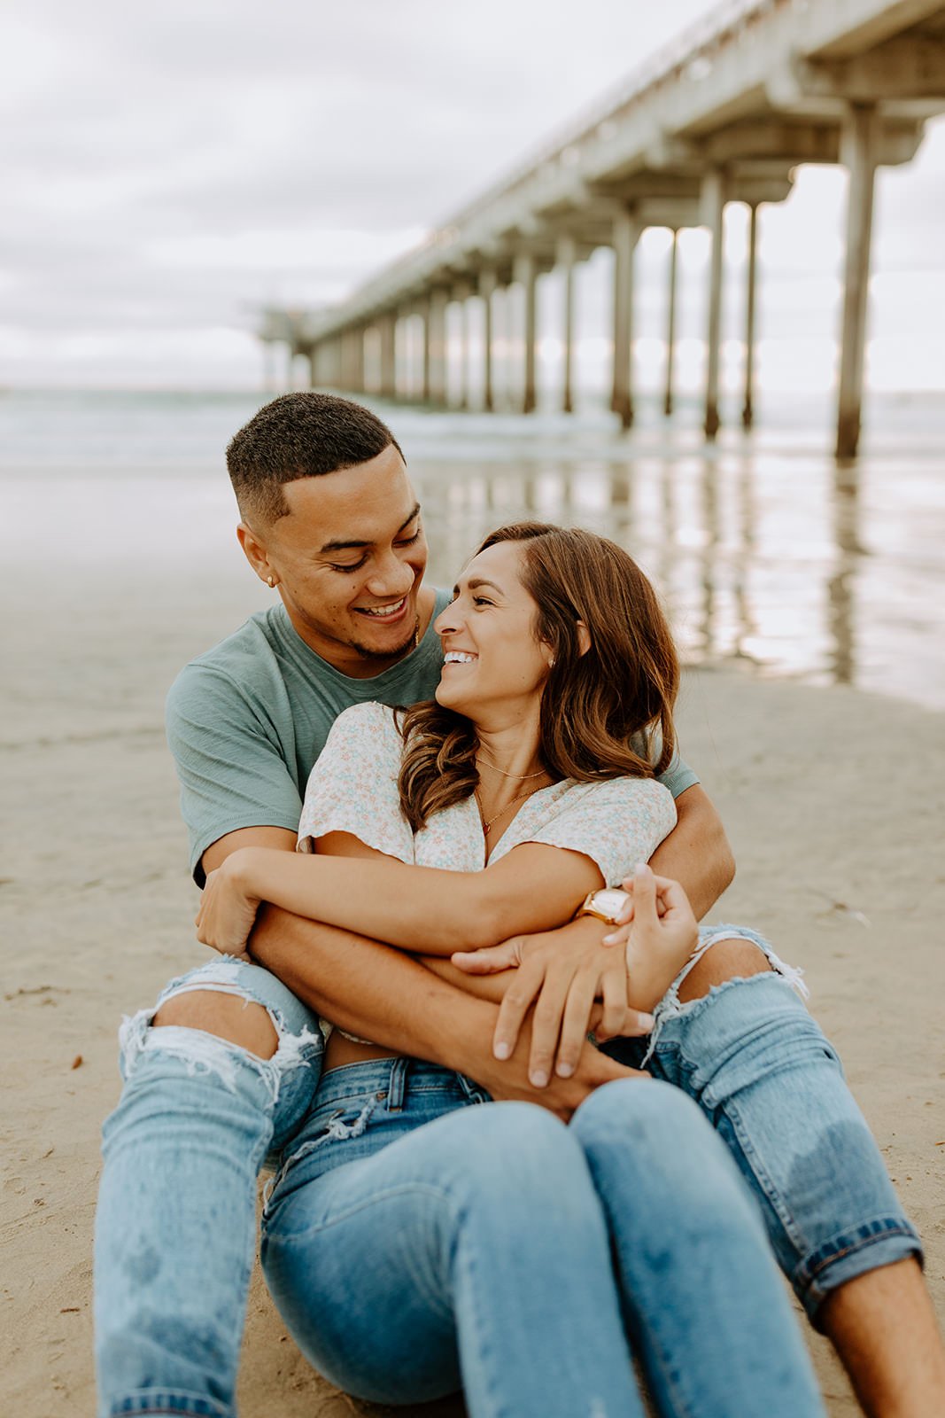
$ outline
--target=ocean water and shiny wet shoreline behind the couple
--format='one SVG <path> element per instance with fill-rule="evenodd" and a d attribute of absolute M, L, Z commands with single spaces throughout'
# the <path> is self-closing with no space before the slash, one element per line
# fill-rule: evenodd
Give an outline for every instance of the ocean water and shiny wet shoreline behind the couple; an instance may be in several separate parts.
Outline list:
<path fill-rule="evenodd" d="M 248 580 L 224 448 L 266 394 L 0 394 L 0 499 L 13 597 L 72 615 L 112 597 L 150 621 Z M 707 447 L 698 407 L 531 417 L 375 407 L 422 499 L 448 584 L 493 526 L 523 516 L 605 533 L 636 557 L 690 664 L 738 662 L 945 708 L 945 401 L 873 396 L 861 457 L 830 457 L 826 398 L 782 398 Z M 732 410 L 734 415 L 735 410 Z M 171 590 L 173 588 L 173 590 Z M 16 614 L 16 611 L 14 611 Z M 169 627 L 170 628 L 170 627 Z"/>

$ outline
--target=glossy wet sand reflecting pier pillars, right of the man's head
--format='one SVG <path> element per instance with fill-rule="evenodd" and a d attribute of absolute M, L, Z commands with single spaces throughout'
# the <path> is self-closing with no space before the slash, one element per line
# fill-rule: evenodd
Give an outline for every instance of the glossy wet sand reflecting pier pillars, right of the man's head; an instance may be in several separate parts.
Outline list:
<path fill-rule="evenodd" d="M 942 508 L 884 482 L 877 465 L 723 448 L 616 458 L 412 464 L 434 579 L 449 579 L 493 526 L 520 518 L 612 536 L 653 577 L 690 664 L 747 661 L 764 672 L 945 703 L 942 543 L 919 570 L 912 530 Z M 904 496 L 904 492 L 908 492 Z M 918 495 L 917 495 L 918 493 Z M 928 533 L 928 526 L 925 527 Z"/>

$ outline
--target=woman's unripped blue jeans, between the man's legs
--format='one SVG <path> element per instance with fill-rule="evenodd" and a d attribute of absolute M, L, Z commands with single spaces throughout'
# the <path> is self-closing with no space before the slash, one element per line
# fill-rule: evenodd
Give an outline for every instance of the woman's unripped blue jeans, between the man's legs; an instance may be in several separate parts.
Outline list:
<path fill-rule="evenodd" d="M 660 1415 L 823 1412 L 758 1207 L 666 1083 L 608 1083 L 565 1127 L 431 1064 L 334 1069 L 262 1263 L 306 1357 L 374 1402 L 643 1418 L 636 1353 Z"/>

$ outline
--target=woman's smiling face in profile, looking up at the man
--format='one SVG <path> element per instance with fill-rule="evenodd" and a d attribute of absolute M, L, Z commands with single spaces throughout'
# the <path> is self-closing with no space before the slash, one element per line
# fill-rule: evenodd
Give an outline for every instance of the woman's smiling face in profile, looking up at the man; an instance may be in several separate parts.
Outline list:
<path fill-rule="evenodd" d="M 436 700 L 476 723 L 536 712 L 551 668 L 550 647 L 536 640 L 521 553 L 521 542 L 499 542 L 475 556 L 434 624 L 445 661 Z"/>

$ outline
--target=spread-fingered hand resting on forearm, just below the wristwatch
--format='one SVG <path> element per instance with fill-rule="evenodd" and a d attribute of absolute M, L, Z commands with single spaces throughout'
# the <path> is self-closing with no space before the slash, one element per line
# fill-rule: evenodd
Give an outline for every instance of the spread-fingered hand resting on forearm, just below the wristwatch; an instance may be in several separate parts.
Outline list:
<path fill-rule="evenodd" d="M 589 1028 L 595 1027 L 601 1039 L 649 1034 L 653 1028 L 652 1015 L 628 1007 L 623 951 L 601 944 L 601 923 L 592 917 L 560 930 L 516 936 L 485 950 L 460 951 L 452 963 L 469 974 L 519 967 L 499 1007 L 493 1055 L 513 1056 L 534 1004 L 528 1058 L 534 1088 L 548 1083 L 553 1068 L 558 1078 L 574 1075 Z M 596 1000 L 602 1008 L 595 1011 Z"/>

